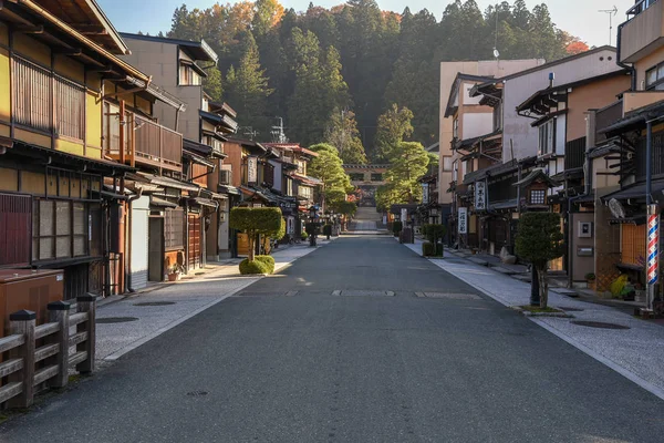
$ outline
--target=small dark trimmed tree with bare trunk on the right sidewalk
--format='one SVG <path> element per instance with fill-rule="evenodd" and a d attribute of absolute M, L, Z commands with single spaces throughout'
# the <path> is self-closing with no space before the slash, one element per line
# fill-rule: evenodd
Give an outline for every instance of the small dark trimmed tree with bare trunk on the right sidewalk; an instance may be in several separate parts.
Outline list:
<path fill-rule="evenodd" d="M 540 308 L 549 302 L 547 267 L 549 261 L 564 254 L 560 215 L 554 213 L 526 213 L 519 219 L 515 240 L 517 256 L 530 261 L 537 270 Z"/>

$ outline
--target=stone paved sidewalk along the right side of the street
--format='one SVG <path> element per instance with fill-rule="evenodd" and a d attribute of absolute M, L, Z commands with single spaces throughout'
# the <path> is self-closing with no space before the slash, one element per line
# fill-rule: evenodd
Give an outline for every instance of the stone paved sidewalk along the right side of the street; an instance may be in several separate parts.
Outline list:
<path fill-rule="evenodd" d="M 404 246 L 422 255 L 421 241 Z M 445 254 L 445 258 L 430 261 L 504 306 L 529 303 L 529 284 L 473 264 L 450 250 Z M 569 298 L 554 288 L 549 291 L 549 306 L 567 309 L 574 318 L 530 319 L 664 400 L 664 328 L 612 307 Z M 629 329 L 595 329 L 574 324 L 573 321 L 605 322 Z"/>

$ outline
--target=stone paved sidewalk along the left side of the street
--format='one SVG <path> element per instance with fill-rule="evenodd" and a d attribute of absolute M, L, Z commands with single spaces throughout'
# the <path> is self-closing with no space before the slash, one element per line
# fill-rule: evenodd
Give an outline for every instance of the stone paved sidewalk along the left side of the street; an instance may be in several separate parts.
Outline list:
<path fill-rule="evenodd" d="M 318 247 L 330 241 L 319 240 Z M 272 254 L 274 271 L 315 249 L 305 245 L 278 248 Z M 237 259 L 214 262 L 209 266 L 211 269 L 203 275 L 153 290 L 102 300 L 96 315 L 97 360 L 102 363 L 116 360 L 262 278 L 240 276 L 238 262 Z"/>

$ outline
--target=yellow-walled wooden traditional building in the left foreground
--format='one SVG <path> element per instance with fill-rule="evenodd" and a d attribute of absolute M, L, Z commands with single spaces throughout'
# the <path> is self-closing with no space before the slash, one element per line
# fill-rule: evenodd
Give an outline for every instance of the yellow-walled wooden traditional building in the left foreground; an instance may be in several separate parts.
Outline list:
<path fill-rule="evenodd" d="M 0 8 L 0 266 L 63 268 L 70 298 L 126 288 L 134 154 L 181 168 L 170 151 L 153 159 L 148 146 L 135 148 L 142 131 L 162 131 L 151 120 L 156 101 L 181 103 L 118 59 L 126 52 L 94 2 Z"/>

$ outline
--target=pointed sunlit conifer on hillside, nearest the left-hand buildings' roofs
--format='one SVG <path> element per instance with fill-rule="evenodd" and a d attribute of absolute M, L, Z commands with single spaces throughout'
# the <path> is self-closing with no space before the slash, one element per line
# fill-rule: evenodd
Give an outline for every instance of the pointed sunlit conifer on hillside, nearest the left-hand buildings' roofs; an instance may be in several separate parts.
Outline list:
<path fill-rule="evenodd" d="M 250 126 L 266 115 L 266 100 L 274 91 L 268 85 L 266 71 L 260 66 L 258 47 L 250 32 L 245 34 L 245 50 L 239 66 L 226 74 L 226 101 L 238 112 L 242 126 Z"/>

